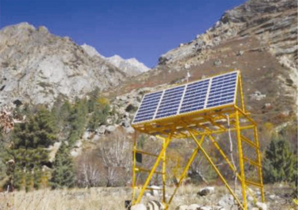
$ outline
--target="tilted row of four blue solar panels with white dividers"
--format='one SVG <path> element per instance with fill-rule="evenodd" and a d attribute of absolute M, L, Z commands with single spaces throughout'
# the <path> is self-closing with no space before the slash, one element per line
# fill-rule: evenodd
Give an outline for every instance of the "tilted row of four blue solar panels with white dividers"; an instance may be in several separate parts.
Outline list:
<path fill-rule="evenodd" d="M 235 102 L 238 71 L 146 94 L 133 124 Z"/>

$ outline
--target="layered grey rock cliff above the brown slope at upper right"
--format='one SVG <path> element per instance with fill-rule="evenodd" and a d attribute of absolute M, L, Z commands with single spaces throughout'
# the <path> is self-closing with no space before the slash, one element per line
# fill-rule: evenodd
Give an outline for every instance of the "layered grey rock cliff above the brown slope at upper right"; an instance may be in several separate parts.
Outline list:
<path fill-rule="evenodd" d="M 278 59 L 285 56 L 297 68 L 297 1 L 249 0 L 228 10 L 206 33 L 159 58 L 159 65 L 175 63 L 196 56 L 231 38 L 254 36 L 269 45 Z"/>

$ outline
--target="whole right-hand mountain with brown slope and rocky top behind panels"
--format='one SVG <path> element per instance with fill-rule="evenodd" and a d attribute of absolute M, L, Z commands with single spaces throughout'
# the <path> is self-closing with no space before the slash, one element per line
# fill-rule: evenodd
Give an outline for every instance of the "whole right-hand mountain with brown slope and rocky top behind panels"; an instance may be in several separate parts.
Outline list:
<path fill-rule="evenodd" d="M 260 123 L 297 117 L 297 1 L 249 0 L 226 11 L 205 33 L 164 53 L 159 64 L 111 97 L 141 87 L 181 84 L 239 69 L 247 109 Z"/>

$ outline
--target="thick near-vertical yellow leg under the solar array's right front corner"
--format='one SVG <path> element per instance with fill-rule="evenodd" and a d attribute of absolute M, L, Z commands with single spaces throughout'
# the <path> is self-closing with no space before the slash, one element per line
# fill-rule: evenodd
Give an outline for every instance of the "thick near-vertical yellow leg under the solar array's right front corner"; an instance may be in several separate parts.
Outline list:
<path fill-rule="evenodd" d="M 246 200 L 246 185 L 245 185 L 245 174 L 244 174 L 244 164 L 243 164 L 243 154 L 242 154 L 242 141 L 240 134 L 240 125 L 239 125 L 239 111 L 236 110 L 236 134 L 237 134 L 237 144 L 238 144 L 238 153 L 239 153 L 239 168 L 241 176 L 241 188 L 242 188 L 242 197 L 243 197 L 243 207 L 247 209 L 247 200 Z"/>

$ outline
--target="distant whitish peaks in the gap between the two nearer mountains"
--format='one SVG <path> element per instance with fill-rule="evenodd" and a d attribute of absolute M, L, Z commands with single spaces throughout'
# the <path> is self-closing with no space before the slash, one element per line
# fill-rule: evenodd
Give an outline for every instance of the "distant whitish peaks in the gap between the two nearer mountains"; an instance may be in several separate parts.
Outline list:
<path fill-rule="evenodd" d="M 112 65 L 116 66 L 117 68 L 119 68 L 120 70 L 122 70 L 123 72 L 128 74 L 129 76 L 136 76 L 136 75 L 139 75 L 143 72 L 150 70 L 142 62 L 139 62 L 135 58 L 123 59 L 119 55 L 114 55 L 111 57 L 104 57 L 103 55 L 98 53 L 94 47 L 92 47 L 90 45 L 83 44 L 83 45 L 81 45 L 81 47 L 84 48 L 84 50 L 86 51 L 86 53 L 89 54 L 89 56 L 91 56 L 91 57 L 99 56 L 99 57 L 105 59 L 107 62 L 111 63 Z"/>

